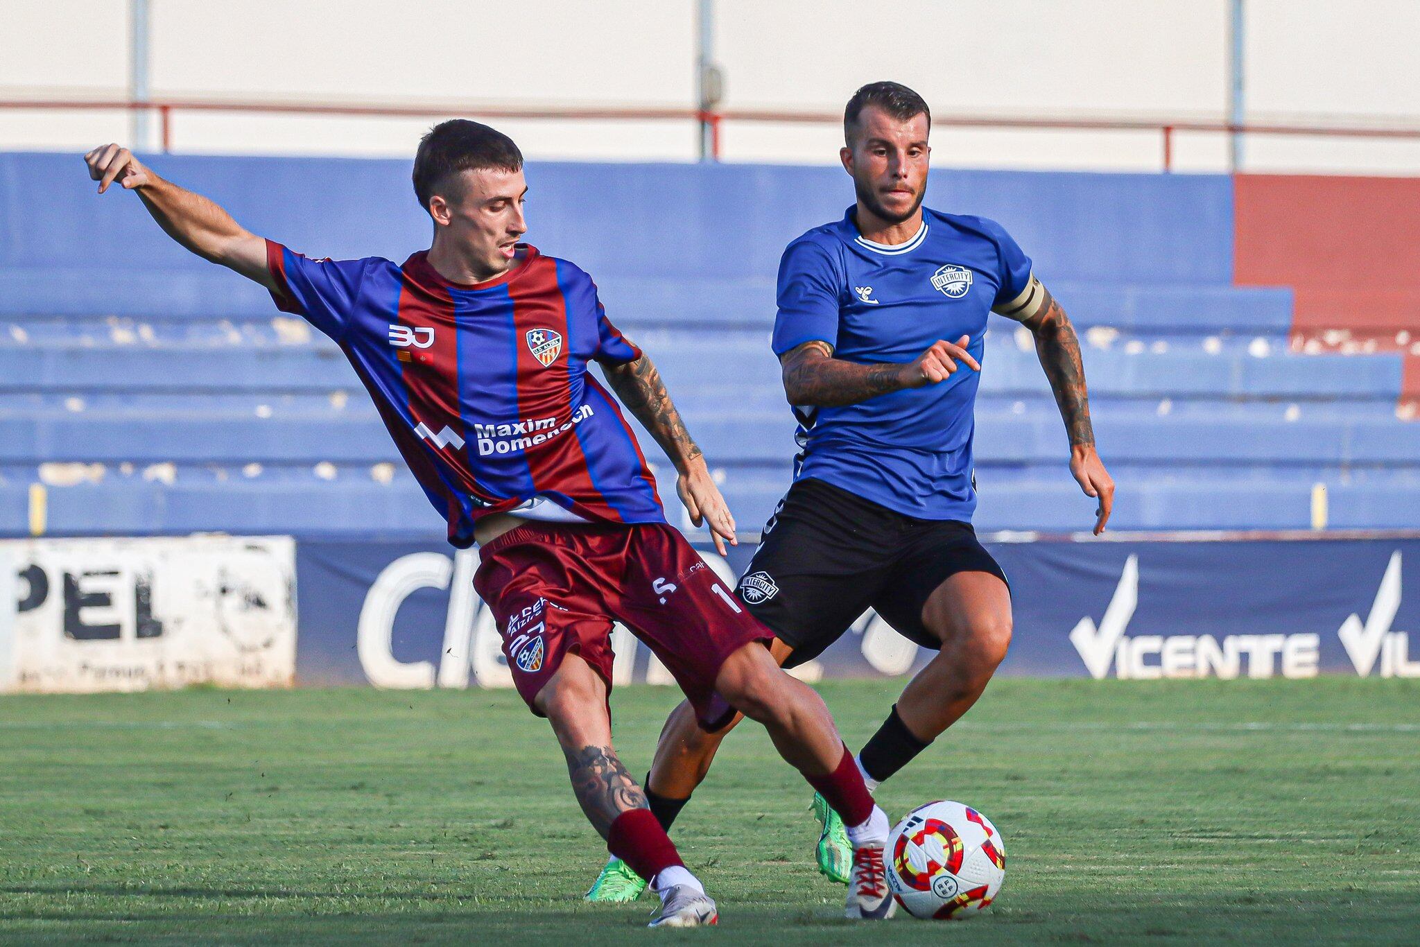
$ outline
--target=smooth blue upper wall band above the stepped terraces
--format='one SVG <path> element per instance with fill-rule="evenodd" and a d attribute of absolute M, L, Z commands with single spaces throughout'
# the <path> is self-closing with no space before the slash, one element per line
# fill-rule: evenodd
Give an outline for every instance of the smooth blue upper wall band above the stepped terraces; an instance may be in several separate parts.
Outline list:
<path fill-rule="evenodd" d="M 152 166 L 308 256 L 429 244 L 405 160 L 153 156 Z M 534 163 L 528 239 L 596 278 L 772 280 L 785 243 L 852 203 L 838 168 Z M 175 246 L 78 155 L 0 155 L 0 312 L 268 314 Z M 1227 284 L 1225 176 L 940 170 L 932 206 L 1000 220 L 1049 280 Z M 653 291 L 653 287 L 649 288 Z"/>

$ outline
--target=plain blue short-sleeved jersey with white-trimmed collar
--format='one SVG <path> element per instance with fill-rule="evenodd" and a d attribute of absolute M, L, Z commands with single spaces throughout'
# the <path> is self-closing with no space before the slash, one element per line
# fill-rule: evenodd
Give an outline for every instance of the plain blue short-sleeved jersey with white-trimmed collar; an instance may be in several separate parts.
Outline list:
<path fill-rule="evenodd" d="M 968 335 L 967 351 L 984 362 L 987 315 L 1030 280 L 1031 260 L 994 220 L 923 209 L 917 234 L 886 246 L 862 237 L 849 207 L 784 251 L 774 354 L 819 339 L 848 362 L 910 362 L 937 339 Z M 795 407 L 802 453 L 794 478 L 815 477 L 910 517 L 970 522 L 978 383 L 963 368 L 858 405 Z"/>

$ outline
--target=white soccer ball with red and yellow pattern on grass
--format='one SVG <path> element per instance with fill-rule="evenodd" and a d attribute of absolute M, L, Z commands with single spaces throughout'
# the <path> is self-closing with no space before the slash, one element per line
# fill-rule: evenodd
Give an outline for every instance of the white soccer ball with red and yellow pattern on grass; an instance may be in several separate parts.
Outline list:
<path fill-rule="evenodd" d="M 913 917 L 946 920 L 985 910 L 1005 880 L 1005 843 L 991 821 L 960 802 L 929 802 L 888 836 L 888 886 Z"/>

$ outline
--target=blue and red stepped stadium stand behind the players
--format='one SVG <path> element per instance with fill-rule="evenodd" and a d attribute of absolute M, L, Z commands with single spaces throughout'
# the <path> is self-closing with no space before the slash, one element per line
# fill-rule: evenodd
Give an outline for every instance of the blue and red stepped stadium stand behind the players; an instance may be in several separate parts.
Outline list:
<path fill-rule="evenodd" d="M 427 246 L 405 162 L 152 163 L 310 256 Z M 528 179 L 530 240 L 598 280 L 755 528 L 794 453 L 768 349 L 778 256 L 843 213 L 849 182 L 744 165 L 540 163 Z M 1331 527 L 1420 527 L 1420 372 L 1403 365 L 1420 355 L 1420 267 L 1348 295 L 1328 270 L 1397 237 L 1342 214 L 1278 243 L 1279 207 L 1370 193 L 1298 180 L 936 172 L 929 203 L 1005 224 L 1075 319 L 1115 528 L 1306 528 L 1316 484 Z M 27 534 L 37 483 L 53 534 L 442 534 L 334 344 L 185 254 L 131 196 L 92 189 L 77 156 L 0 155 L 0 532 Z M 1413 185 L 1377 206 L 1397 200 L 1420 207 Z M 1298 263 L 1319 240 L 1349 241 L 1345 258 Z M 1030 334 L 1005 321 L 977 420 L 978 527 L 1089 525 Z"/>

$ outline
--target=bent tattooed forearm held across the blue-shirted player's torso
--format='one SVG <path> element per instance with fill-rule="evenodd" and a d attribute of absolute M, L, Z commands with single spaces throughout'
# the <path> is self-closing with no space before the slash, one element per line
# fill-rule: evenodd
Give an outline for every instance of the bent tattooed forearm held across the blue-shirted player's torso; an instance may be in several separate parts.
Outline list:
<path fill-rule="evenodd" d="M 936 385 L 963 365 L 981 371 L 967 352 L 970 341 L 966 335 L 956 342 L 939 339 L 926 352 L 905 363 L 859 365 L 834 358 L 832 345 L 814 339 L 790 349 L 780 359 L 784 371 L 784 393 L 791 405 L 839 407 L 905 388 Z"/>

